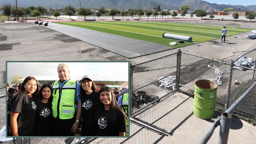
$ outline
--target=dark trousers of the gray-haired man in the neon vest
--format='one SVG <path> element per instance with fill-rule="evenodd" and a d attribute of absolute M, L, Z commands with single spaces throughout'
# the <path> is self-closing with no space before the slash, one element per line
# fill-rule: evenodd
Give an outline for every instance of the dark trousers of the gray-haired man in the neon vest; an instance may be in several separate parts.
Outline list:
<path fill-rule="evenodd" d="M 58 117 L 52 117 L 50 136 L 75 136 L 75 133 L 71 133 L 75 121 L 75 116 L 67 120 L 60 120 Z"/>

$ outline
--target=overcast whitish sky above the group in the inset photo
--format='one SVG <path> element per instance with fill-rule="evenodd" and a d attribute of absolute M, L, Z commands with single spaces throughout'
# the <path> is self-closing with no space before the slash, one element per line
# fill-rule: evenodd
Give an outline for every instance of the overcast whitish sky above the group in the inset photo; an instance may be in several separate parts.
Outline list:
<path fill-rule="evenodd" d="M 8 62 L 7 77 L 13 76 L 58 76 L 61 62 Z M 128 81 L 128 62 L 75 62 L 66 63 L 70 76 L 123 76 Z"/>

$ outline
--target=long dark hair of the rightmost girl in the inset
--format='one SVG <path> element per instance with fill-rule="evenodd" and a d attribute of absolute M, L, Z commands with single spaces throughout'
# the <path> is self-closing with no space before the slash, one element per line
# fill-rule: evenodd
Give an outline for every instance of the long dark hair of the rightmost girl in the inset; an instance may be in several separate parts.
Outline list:
<path fill-rule="evenodd" d="M 117 109 L 121 110 L 123 112 L 123 114 L 125 114 L 125 113 L 117 104 L 116 95 L 114 94 L 113 90 L 108 86 L 105 86 L 99 90 L 97 104 L 96 104 L 97 114 L 95 114 L 95 120 L 98 120 L 98 118 L 100 117 L 101 111 L 104 110 L 104 108 L 105 108 L 104 104 L 100 100 L 100 94 L 101 94 L 101 92 L 104 92 L 104 91 L 110 92 L 111 98 L 112 98 L 111 104 L 110 104 L 110 109 L 108 111 L 106 119 L 115 121 Z M 126 118 L 127 118 L 127 115 L 126 115 Z"/>

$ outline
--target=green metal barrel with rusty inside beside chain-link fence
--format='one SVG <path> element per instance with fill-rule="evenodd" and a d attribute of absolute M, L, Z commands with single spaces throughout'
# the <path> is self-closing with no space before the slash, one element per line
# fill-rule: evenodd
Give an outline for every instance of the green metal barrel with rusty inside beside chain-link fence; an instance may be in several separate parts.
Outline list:
<path fill-rule="evenodd" d="M 201 119 L 214 117 L 217 86 L 216 83 L 210 80 L 198 80 L 195 82 L 193 112 L 196 117 Z"/>

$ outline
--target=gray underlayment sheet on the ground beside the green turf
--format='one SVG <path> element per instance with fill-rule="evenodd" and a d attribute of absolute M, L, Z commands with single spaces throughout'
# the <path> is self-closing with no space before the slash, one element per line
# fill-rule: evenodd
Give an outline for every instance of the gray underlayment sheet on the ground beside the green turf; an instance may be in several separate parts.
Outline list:
<path fill-rule="evenodd" d="M 138 39 L 102 33 L 80 27 L 67 26 L 57 23 L 48 23 L 48 28 L 59 33 L 71 36 L 89 44 L 114 52 L 126 58 L 135 58 L 143 55 L 162 52 L 174 47 L 146 42 Z M 120 31 L 120 33 L 122 33 Z"/>

